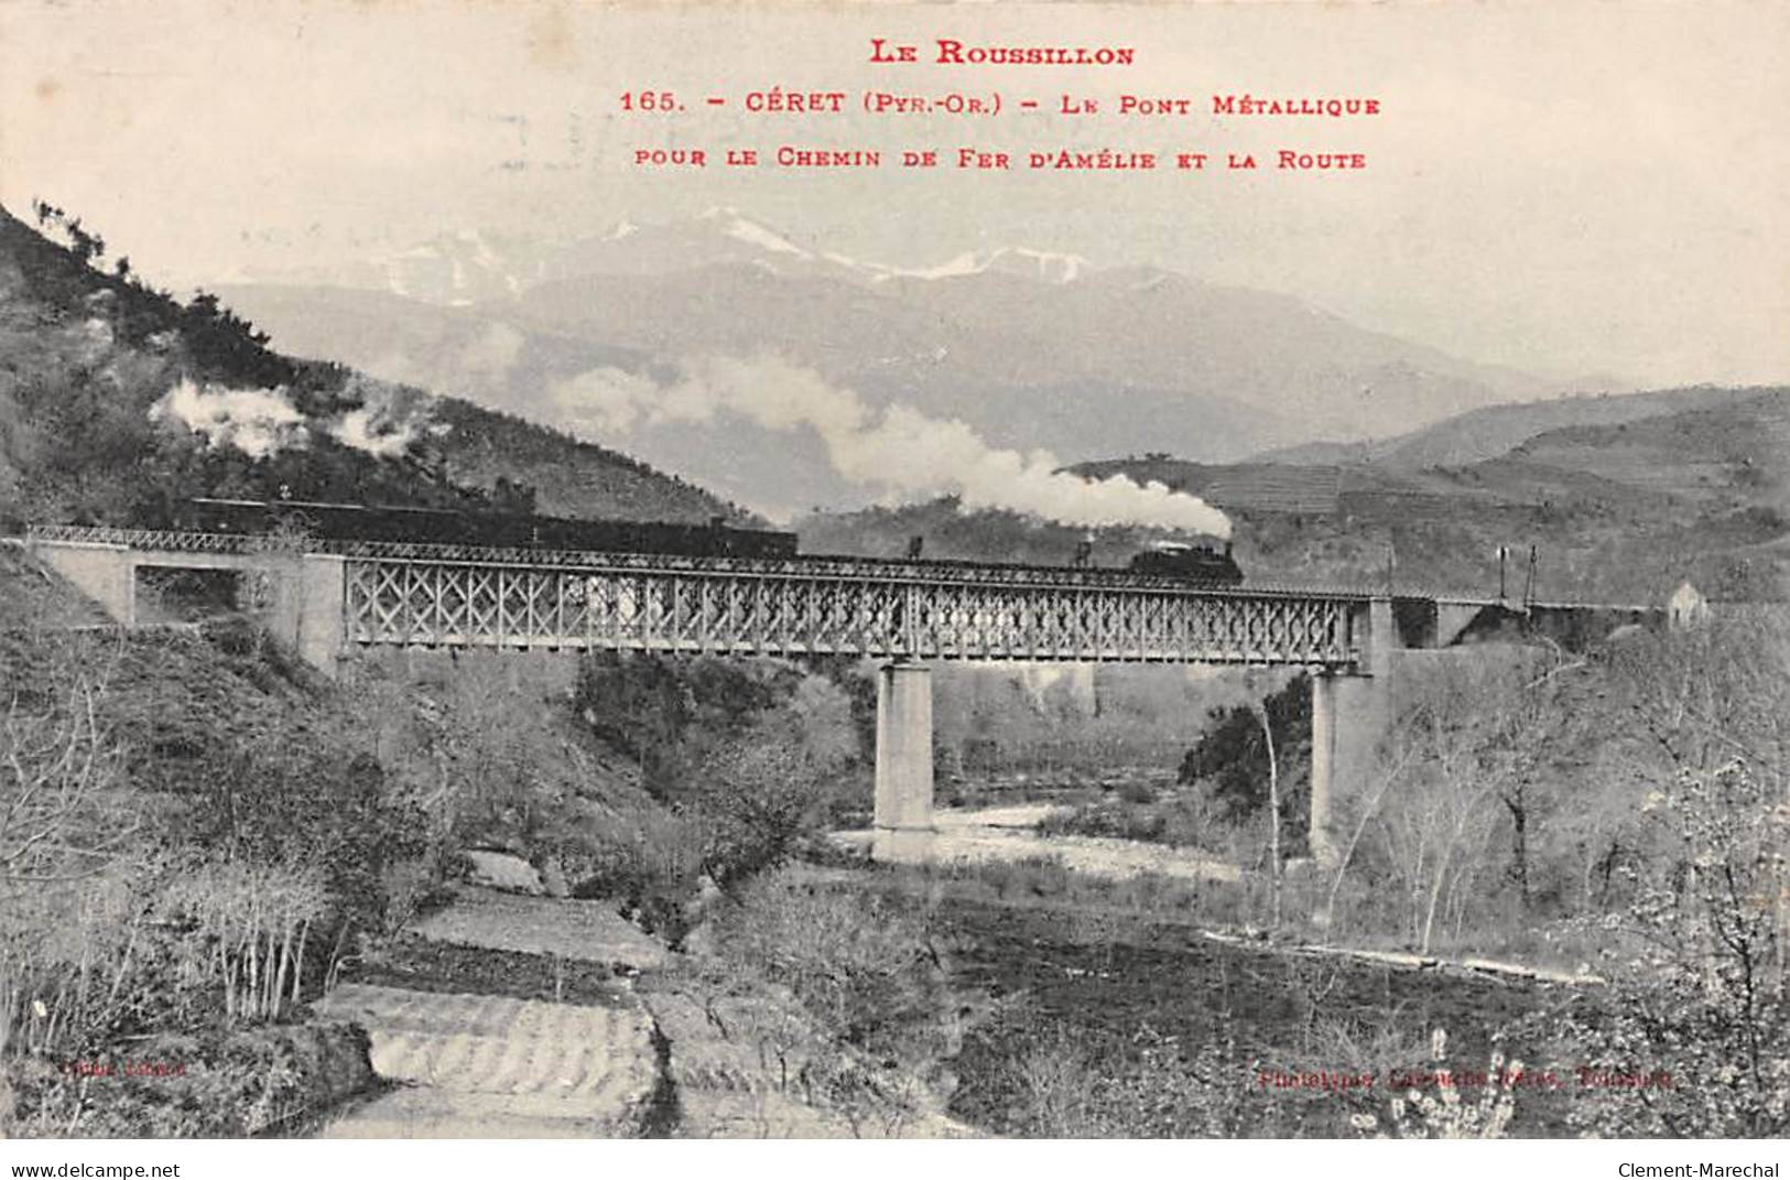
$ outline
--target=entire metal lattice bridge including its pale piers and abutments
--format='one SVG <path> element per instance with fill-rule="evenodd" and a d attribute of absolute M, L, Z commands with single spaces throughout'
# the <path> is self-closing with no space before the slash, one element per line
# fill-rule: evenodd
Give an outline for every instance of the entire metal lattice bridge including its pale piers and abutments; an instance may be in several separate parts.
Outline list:
<path fill-rule="evenodd" d="M 1389 713 L 1393 652 L 1511 614 L 1384 591 L 1198 587 L 1121 569 L 856 557 L 721 559 L 38 526 L 27 544 L 125 625 L 161 569 L 229 571 L 238 598 L 337 675 L 358 648 L 643 650 L 884 661 L 879 852 L 933 813 L 925 661 L 1262 664 L 1312 670 L 1312 831 L 1357 790 Z M 1588 607 L 1532 607 L 1577 618 Z M 1636 609 L 1616 611 L 1632 616 Z"/>

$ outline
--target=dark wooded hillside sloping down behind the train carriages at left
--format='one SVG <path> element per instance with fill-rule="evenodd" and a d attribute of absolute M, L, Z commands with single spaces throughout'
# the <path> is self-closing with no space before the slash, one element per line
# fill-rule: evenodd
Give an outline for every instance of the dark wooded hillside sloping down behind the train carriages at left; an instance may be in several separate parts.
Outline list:
<path fill-rule="evenodd" d="M 0 209 L 0 517 L 13 528 L 152 525 L 195 494 L 478 505 L 499 475 L 544 512 L 746 519 L 626 455 L 283 356 L 217 297 L 156 290 L 79 218 L 38 213 L 45 233 Z"/>

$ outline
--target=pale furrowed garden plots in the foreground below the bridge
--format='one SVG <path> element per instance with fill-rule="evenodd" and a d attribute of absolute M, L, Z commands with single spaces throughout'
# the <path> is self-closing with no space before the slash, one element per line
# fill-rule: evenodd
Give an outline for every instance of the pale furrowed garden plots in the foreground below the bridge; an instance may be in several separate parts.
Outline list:
<path fill-rule="evenodd" d="M 659 1083 L 653 1022 L 626 978 L 662 947 L 601 906 L 469 890 L 413 933 L 490 951 L 619 969 L 601 994 L 548 1003 L 344 983 L 319 1005 L 372 1037 L 392 1089 L 322 1128 L 326 1139 L 553 1139 L 641 1132 Z"/>

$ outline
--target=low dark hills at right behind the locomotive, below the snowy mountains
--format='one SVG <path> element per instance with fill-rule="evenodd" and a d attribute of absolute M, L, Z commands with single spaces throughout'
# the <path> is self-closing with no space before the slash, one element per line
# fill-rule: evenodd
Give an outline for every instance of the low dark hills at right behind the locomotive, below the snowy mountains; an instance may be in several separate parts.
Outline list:
<path fill-rule="evenodd" d="M 1495 596 L 1502 548 L 1513 598 L 1658 605 L 1683 580 L 1718 600 L 1790 598 L 1790 389 L 1496 406 L 1378 449 L 1330 464 L 1153 453 L 1074 471 L 1156 480 L 1223 509 L 1257 584 Z M 1443 453 L 1455 462 L 1427 462 Z M 1083 539 L 949 500 L 820 512 L 797 530 L 816 552 L 893 555 L 922 535 L 936 557 L 1044 564 L 1069 562 Z M 1099 530 L 1094 562 L 1124 564 L 1147 535 Z"/>

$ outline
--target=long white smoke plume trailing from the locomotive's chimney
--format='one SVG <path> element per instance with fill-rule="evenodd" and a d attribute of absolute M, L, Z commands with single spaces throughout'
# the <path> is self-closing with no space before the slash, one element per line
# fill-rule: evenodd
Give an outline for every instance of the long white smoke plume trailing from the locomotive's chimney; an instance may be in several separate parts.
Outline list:
<path fill-rule="evenodd" d="M 551 389 L 560 414 L 609 432 L 639 424 L 709 423 L 720 412 L 766 430 L 811 428 L 834 471 L 895 494 L 954 494 L 970 509 L 1011 509 L 1065 525 L 1142 525 L 1230 537 L 1230 519 L 1187 492 L 1115 475 L 1085 480 L 1049 451 L 995 449 L 965 423 L 893 405 L 872 412 L 848 389 L 777 356 L 711 356 L 659 383 L 592 369 Z"/>

